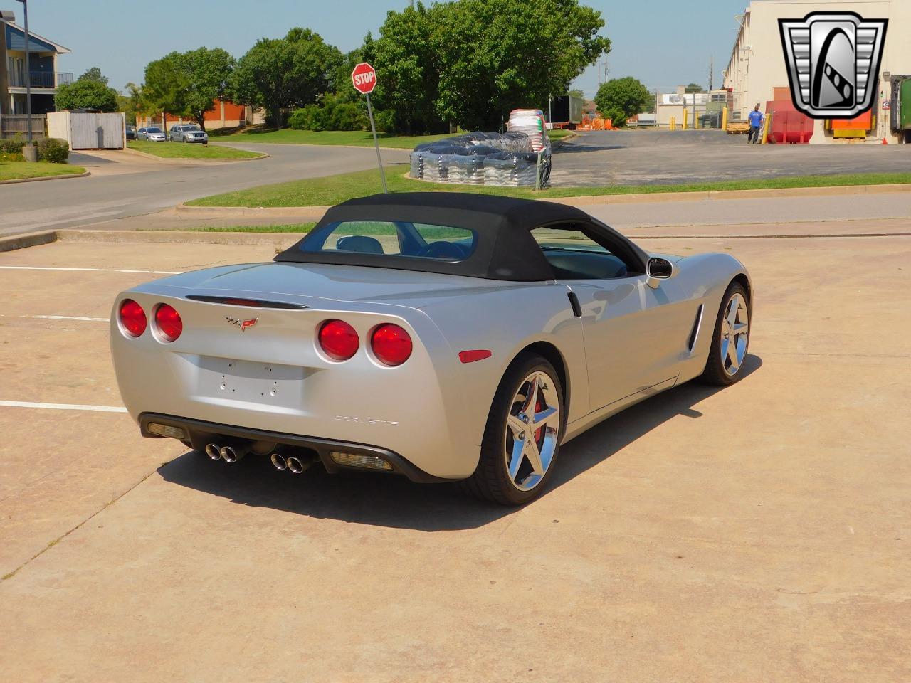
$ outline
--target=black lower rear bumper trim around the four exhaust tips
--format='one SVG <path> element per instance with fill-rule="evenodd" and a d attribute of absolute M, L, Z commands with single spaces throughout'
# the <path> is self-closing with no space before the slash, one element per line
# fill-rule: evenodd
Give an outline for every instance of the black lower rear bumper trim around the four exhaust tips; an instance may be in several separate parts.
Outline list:
<path fill-rule="evenodd" d="M 362 468 L 347 467 L 337 464 L 333 458 L 333 453 L 345 453 L 356 455 L 370 455 L 380 458 L 392 466 L 394 474 L 404 474 L 411 481 L 418 484 L 438 484 L 451 482 L 451 479 L 428 474 L 420 467 L 410 463 L 401 455 L 390 451 L 387 448 L 373 446 L 366 443 L 350 443 L 337 441 L 335 439 L 323 439 L 317 436 L 304 436 L 302 434 L 288 434 L 281 432 L 271 432 L 264 429 L 251 429 L 250 427 L 235 427 L 230 424 L 210 423 L 203 420 L 190 420 L 185 417 L 176 417 L 174 415 L 165 415 L 160 413 L 142 413 L 139 415 L 139 430 L 142 435 L 150 439 L 166 438 L 159 434 L 151 433 L 148 430 L 150 423 L 164 424 L 171 427 L 179 427 L 187 434 L 187 441 L 198 451 L 205 449 L 207 443 L 224 441 L 225 439 L 240 439 L 241 441 L 267 442 L 288 445 L 295 448 L 304 448 L 312 451 L 326 468 L 327 472 L 336 473 L 343 470 L 354 470 Z M 374 472 L 390 472 L 390 470 L 371 470 Z"/>

